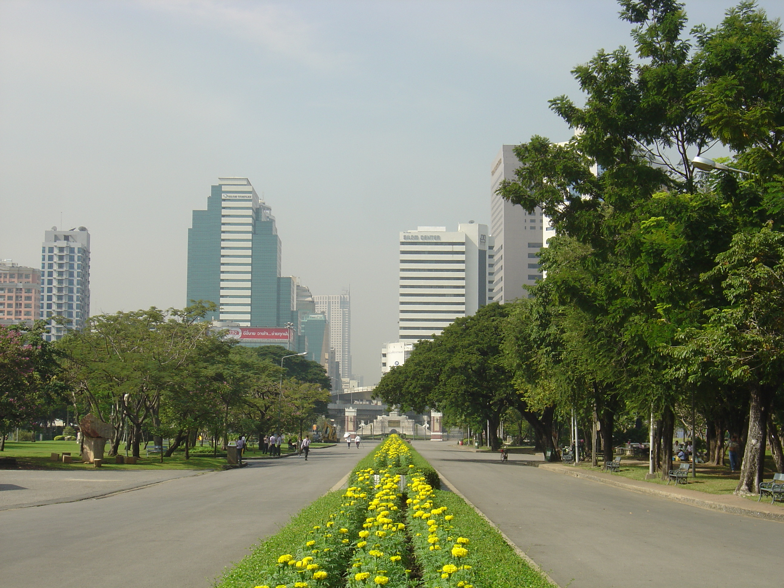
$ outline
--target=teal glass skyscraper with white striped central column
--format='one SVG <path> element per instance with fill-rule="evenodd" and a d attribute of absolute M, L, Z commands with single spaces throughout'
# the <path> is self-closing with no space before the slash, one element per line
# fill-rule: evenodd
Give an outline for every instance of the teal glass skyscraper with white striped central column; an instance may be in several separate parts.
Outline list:
<path fill-rule="evenodd" d="M 298 328 L 296 278 L 281 277 L 272 209 L 247 178 L 219 178 L 188 230 L 187 303 L 209 300 L 208 320 Z"/>

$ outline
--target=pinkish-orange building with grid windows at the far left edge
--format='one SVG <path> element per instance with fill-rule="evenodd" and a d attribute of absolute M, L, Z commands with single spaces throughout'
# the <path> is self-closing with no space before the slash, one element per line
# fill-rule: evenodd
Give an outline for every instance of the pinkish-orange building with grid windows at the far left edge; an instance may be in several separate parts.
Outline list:
<path fill-rule="evenodd" d="M 0 325 L 32 325 L 41 316 L 41 270 L 0 261 Z"/>

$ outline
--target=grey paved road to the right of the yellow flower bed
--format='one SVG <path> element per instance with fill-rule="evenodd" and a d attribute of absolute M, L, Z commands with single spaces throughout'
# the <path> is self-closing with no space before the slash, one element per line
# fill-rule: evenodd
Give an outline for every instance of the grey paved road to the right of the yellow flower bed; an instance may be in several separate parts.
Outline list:
<path fill-rule="evenodd" d="M 784 523 L 704 510 L 420 441 L 419 452 L 560 586 L 781 586 Z"/>

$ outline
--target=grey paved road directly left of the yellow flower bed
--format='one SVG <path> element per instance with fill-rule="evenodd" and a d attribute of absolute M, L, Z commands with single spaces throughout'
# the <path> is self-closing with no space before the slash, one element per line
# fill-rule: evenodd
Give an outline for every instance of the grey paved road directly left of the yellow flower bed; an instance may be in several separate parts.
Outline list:
<path fill-rule="evenodd" d="M 373 444 L 314 449 L 76 503 L 0 511 L 0 585 L 206 588 Z"/>

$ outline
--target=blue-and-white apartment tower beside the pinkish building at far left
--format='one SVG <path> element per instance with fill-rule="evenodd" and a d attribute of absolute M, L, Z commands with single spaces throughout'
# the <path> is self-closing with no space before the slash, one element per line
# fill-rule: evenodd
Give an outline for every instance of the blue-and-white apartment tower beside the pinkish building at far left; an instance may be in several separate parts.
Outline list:
<path fill-rule="evenodd" d="M 90 234 L 85 227 L 45 231 L 38 312 L 40 318 L 49 319 L 48 341 L 84 328 L 90 316 Z M 65 324 L 57 324 L 54 317 L 63 318 Z"/>

